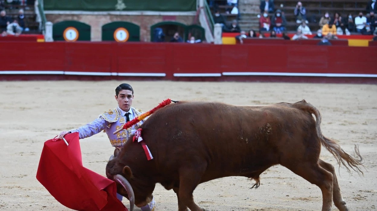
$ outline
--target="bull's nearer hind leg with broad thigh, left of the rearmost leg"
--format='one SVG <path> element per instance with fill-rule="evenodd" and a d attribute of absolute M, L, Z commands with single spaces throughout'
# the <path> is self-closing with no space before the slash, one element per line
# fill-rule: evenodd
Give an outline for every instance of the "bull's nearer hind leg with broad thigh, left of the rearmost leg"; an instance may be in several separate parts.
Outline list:
<path fill-rule="evenodd" d="M 318 163 L 304 162 L 284 165 L 295 174 L 317 185 L 322 191 L 322 211 L 330 211 L 333 203 L 333 174 Z"/>

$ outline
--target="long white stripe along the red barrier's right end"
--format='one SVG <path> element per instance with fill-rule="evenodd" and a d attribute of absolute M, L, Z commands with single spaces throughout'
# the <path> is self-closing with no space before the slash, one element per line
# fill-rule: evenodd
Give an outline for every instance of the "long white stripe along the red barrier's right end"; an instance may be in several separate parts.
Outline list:
<path fill-rule="evenodd" d="M 318 76 L 318 77 L 367 77 L 375 78 L 377 74 L 352 73 L 305 73 L 305 72 L 223 72 L 222 75 L 272 75 L 272 76 Z"/>

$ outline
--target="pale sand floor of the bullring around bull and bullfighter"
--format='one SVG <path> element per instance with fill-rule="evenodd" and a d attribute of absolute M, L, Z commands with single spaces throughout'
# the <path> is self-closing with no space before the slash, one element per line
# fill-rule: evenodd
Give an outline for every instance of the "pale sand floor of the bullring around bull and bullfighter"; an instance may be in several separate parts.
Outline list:
<path fill-rule="evenodd" d="M 235 105 L 294 103 L 302 99 L 322 114 L 322 132 L 339 140 L 352 154 L 358 144 L 367 169 L 360 177 L 338 171 L 336 160 L 322 149 L 321 159 L 336 165 L 343 198 L 349 210 L 377 206 L 377 86 L 317 83 L 238 83 L 169 81 L 30 81 L 0 82 L 0 210 L 70 210 L 55 200 L 35 178 L 44 141 L 60 131 L 77 128 L 117 106 L 114 89 L 120 83 L 135 89 L 133 106 L 152 109 L 166 98 L 218 101 Z M 105 176 L 113 148 L 106 134 L 80 141 L 85 167 Z M 320 189 L 282 166 L 253 181 L 227 177 L 199 185 L 194 200 L 209 210 L 320 210 Z M 157 185 L 158 210 L 177 210 L 175 193 Z M 128 206 L 126 200 L 123 202 Z M 333 205 L 333 209 L 337 210 Z M 136 210 L 140 210 L 137 208 Z"/>

